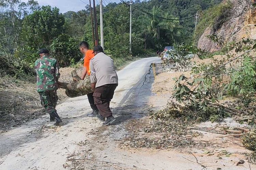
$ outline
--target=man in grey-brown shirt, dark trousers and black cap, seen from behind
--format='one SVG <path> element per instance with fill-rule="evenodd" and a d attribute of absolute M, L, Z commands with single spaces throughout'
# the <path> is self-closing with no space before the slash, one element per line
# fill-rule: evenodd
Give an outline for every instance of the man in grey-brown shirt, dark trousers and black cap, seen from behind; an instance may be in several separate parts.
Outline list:
<path fill-rule="evenodd" d="M 104 121 L 103 125 L 110 125 L 115 121 L 109 105 L 118 85 L 118 77 L 114 61 L 104 54 L 101 46 L 94 47 L 94 55 L 94 58 L 90 60 L 90 79 L 94 91 L 94 103 L 100 113 L 97 118 Z"/>

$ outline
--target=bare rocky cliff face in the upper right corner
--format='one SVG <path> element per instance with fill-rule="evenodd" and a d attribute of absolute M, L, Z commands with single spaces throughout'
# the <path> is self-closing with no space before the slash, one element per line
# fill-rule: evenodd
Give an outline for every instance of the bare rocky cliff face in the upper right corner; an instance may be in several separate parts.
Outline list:
<path fill-rule="evenodd" d="M 208 38 L 209 35 L 216 35 L 225 42 L 232 40 L 239 41 L 243 37 L 255 38 L 256 9 L 253 7 L 255 0 L 224 0 L 222 3 L 231 2 L 229 17 L 223 23 L 216 26 L 210 25 L 198 40 L 198 47 L 214 52 L 222 47 Z"/>

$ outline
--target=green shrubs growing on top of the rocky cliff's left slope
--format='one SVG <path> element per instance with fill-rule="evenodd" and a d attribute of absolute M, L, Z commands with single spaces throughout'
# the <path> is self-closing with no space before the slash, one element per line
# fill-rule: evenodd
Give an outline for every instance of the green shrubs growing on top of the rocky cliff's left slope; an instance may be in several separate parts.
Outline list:
<path fill-rule="evenodd" d="M 194 41 L 197 42 L 204 30 L 208 27 L 213 26 L 213 34 L 221 28 L 222 24 L 230 17 L 231 8 L 232 4 L 228 1 L 203 11 L 202 14 L 200 14 L 200 21 L 194 32 Z"/>

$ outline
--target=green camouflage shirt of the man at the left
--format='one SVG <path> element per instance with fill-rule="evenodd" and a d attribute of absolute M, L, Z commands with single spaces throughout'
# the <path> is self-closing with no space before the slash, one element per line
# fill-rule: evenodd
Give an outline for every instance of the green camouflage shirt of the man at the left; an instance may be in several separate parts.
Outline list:
<path fill-rule="evenodd" d="M 45 55 L 35 61 L 34 67 L 37 72 L 38 92 L 58 89 L 60 73 L 59 64 L 55 58 Z"/>

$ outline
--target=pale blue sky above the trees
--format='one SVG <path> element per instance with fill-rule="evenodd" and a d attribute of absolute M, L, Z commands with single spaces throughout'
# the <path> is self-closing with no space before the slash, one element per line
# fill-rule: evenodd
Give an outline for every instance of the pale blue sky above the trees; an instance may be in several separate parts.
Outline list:
<path fill-rule="evenodd" d="M 28 0 L 22 0 L 23 2 L 28 2 Z M 56 6 L 60 9 L 61 13 L 65 13 L 67 11 L 80 11 L 85 9 L 86 4 L 89 4 L 89 0 L 82 0 L 84 1 L 86 4 L 84 4 L 83 2 L 81 2 L 80 0 L 37 0 L 40 6 L 43 5 L 51 5 L 51 6 Z M 100 1 L 99 0 L 95 0 L 96 4 L 98 4 Z M 103 2 L 105 2 L 105 4 L 108 4 L 108 2 L 117 2 L 119 3 L 120 0 L 103 0 Z M 93 3 L 93 0 L 91 0 L 91 3 Z M 104 5 L 104 3 L 103 3 Z M 105 5 L 104 5 L 105 6 Z"/>

